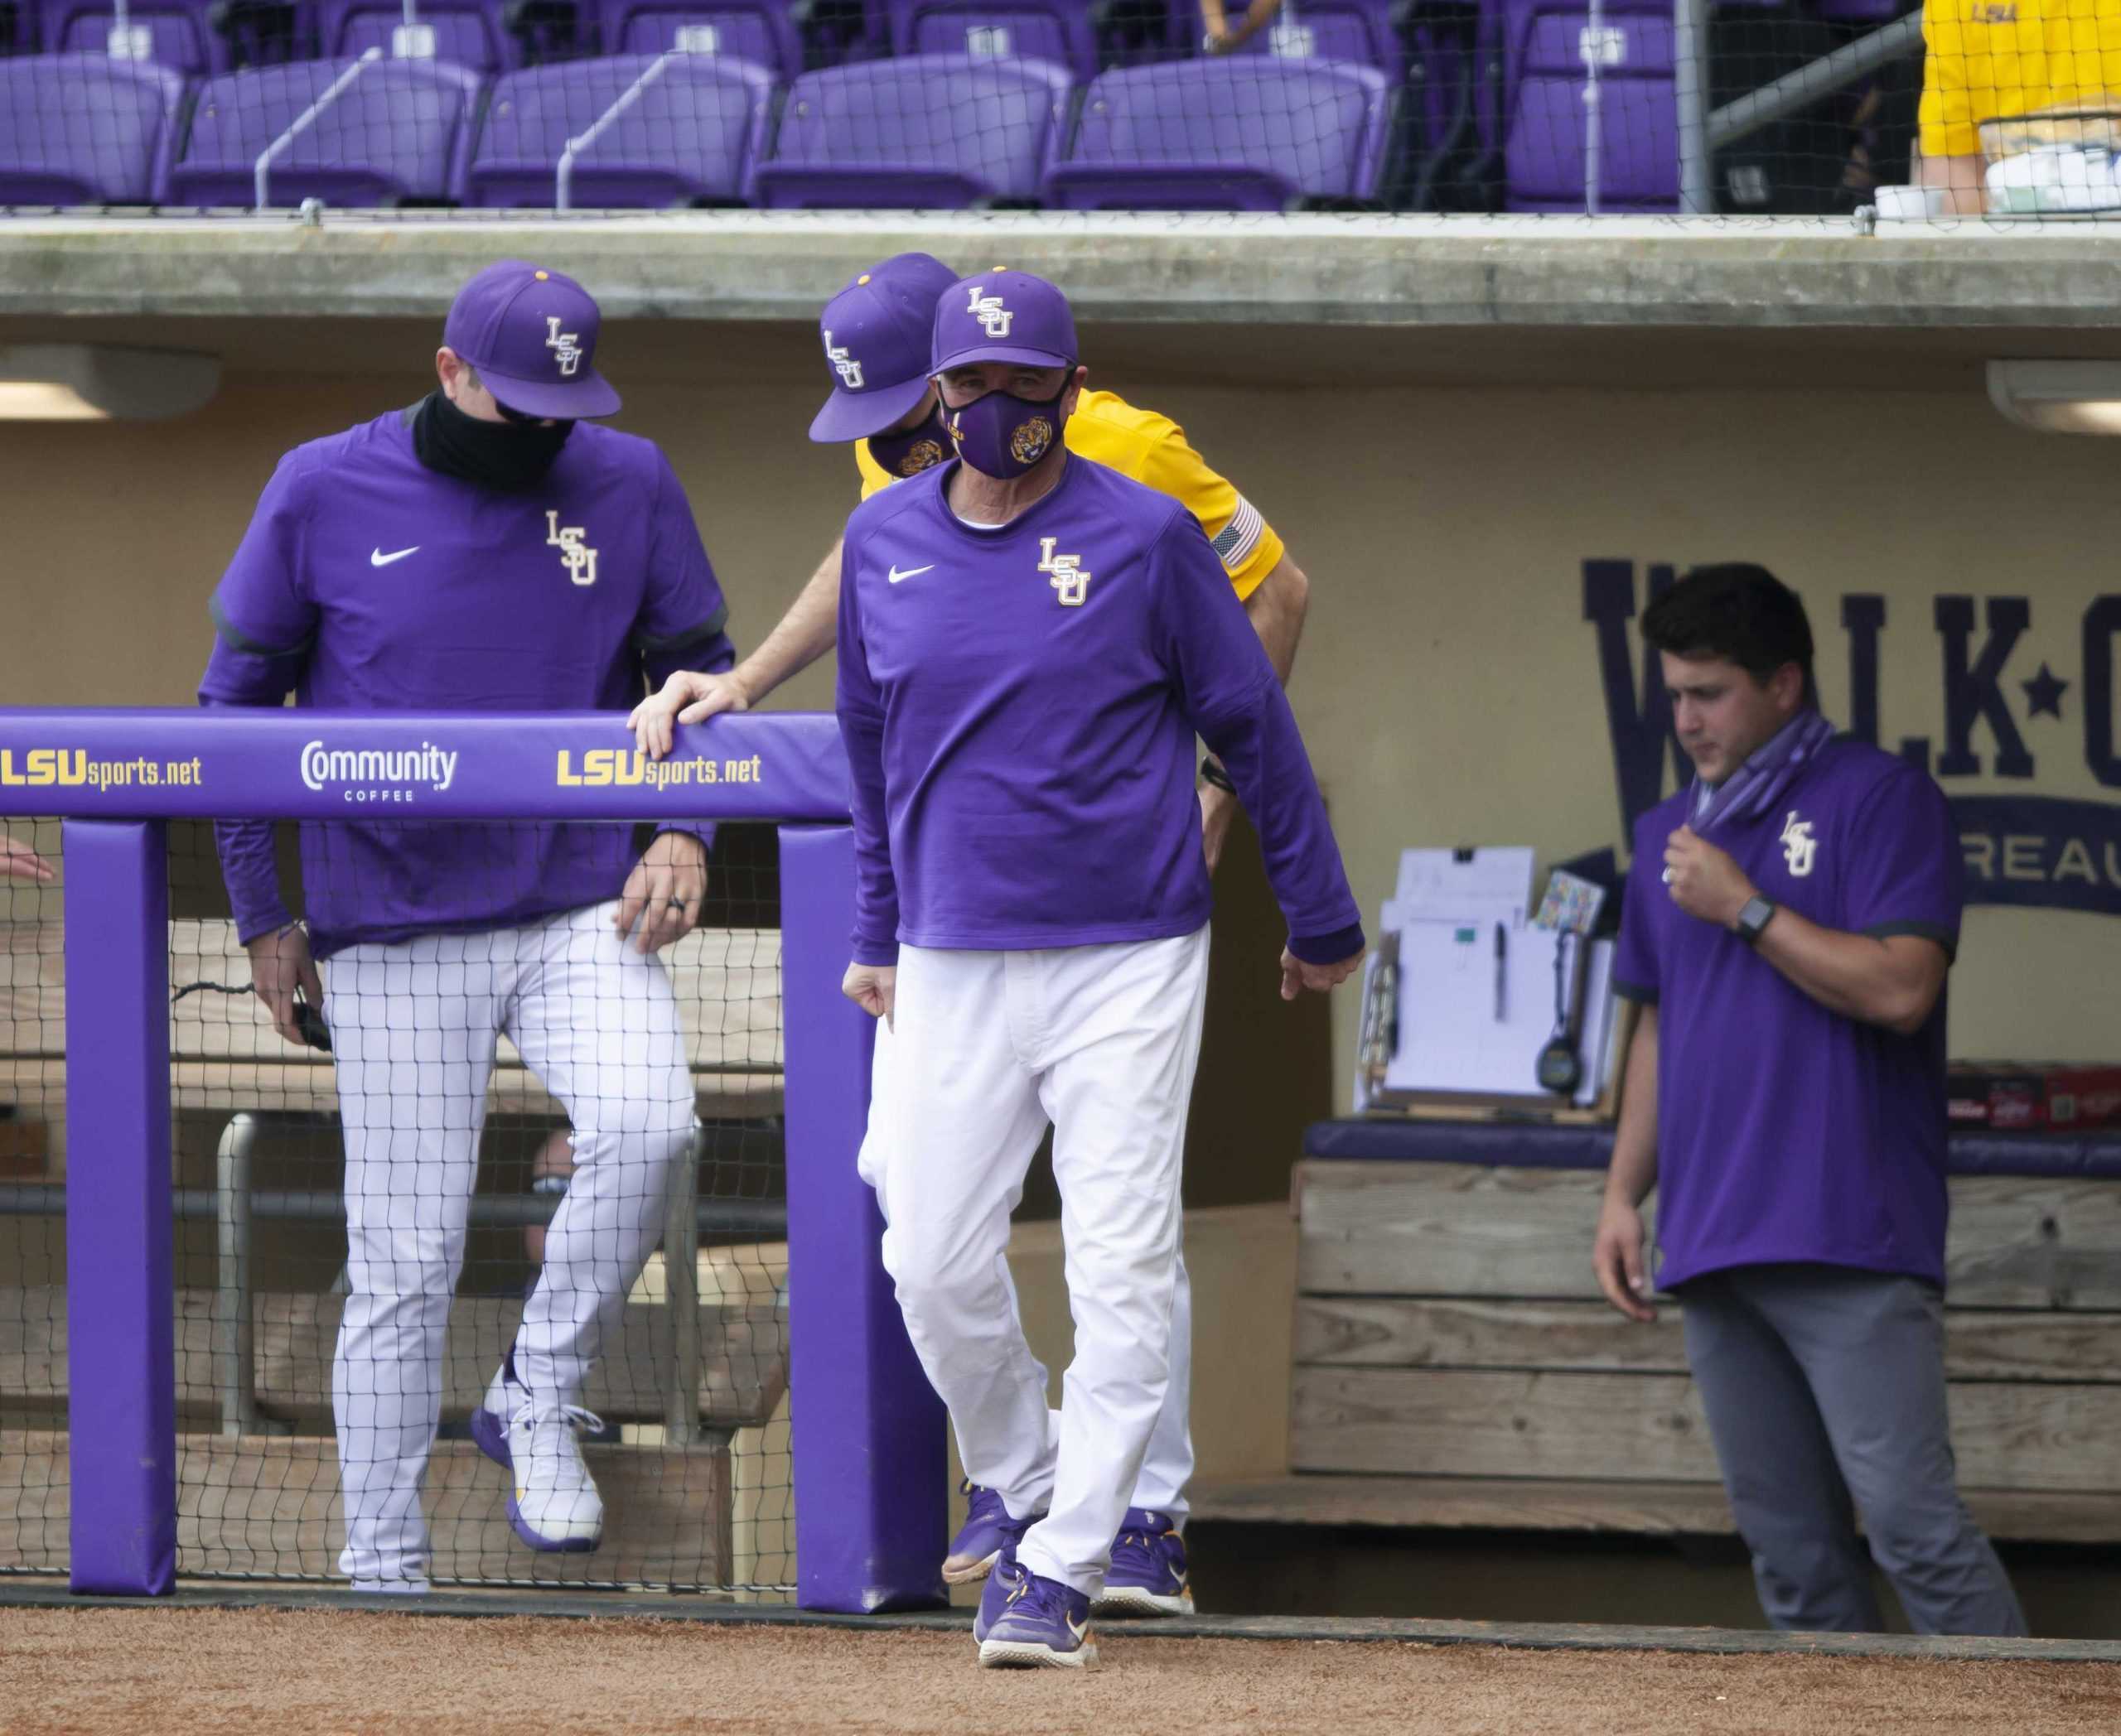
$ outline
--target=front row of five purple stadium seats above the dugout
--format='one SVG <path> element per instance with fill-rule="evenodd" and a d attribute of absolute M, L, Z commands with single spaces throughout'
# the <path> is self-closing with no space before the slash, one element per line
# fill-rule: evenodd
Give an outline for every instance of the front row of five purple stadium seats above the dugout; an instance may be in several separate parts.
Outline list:
<path fill-rule="evenodd" d="M 778 100 L 776 100 L 778 95 Z M 1080 93 L 1050 61 L 906 55 L 772 74 L 613 55 L 481 74 L 431 59 L 208 78 L 102 55 L 0 61 L 0 201 L 250 206 L 558 201 L 770 208 L 1281 210 L 1377 195 L 1391 89 L 1330 61 L 1171 61 Z"/>

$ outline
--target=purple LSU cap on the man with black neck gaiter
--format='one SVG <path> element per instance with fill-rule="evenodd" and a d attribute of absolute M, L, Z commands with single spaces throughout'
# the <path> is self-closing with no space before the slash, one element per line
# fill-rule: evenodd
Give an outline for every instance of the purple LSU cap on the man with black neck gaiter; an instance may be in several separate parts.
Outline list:
<path fill-rule="evenodd" d="M 441 341 L 509 409 L 571 422 L 619 407 L 596 371 L 596 301 L 581 284 L 503 259 L 456 293 Z"/>

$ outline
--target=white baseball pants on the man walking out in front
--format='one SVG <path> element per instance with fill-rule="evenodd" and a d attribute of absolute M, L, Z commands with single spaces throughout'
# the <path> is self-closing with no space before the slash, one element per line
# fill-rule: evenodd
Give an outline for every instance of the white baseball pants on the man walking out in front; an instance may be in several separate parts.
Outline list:
<path fill-rule="evenodd" d="M 1018 1560 L 1092 1596 L 1152 1439 L 1177 1473 L 1171 1496 L 1190 1471 L 1184 1399 L 1167 1397 L 1205 1000 L 1207 928 L 1046 952 L 899 947 L 897 1011 L 878 1034 L 891 1060 L 863 1174 L 906 1329 L 965 1475 L 1012 1513 L 1046 1509 Z M 1048 1121 L 1075 1321 L 1058 1418 L 1007 1268 L 1010 1210 Z"/>

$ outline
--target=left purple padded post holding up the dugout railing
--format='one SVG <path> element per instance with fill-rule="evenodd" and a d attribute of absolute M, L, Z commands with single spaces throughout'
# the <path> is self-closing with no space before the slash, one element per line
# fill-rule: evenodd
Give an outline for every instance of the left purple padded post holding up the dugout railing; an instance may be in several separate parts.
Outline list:
<path fill-rule="evenodd" d="M 64 848 L 70 1579 L 157 1596 L 176 1586 L 168 839 L 66 820 Z"/>

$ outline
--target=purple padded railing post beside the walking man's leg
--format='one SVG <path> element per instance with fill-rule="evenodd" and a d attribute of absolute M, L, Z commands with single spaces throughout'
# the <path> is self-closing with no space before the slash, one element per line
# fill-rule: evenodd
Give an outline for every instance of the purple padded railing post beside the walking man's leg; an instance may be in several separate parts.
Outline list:
<path fill-rule="evenodd" d="M 853 829 L 781 827 L 795 1600 L 921 1609 L 946 1602 L 944 1412 L 884 1274 L 876 1195 L 855 1170 L 876 1028 L 840 994 L 853 924 Z"/>

